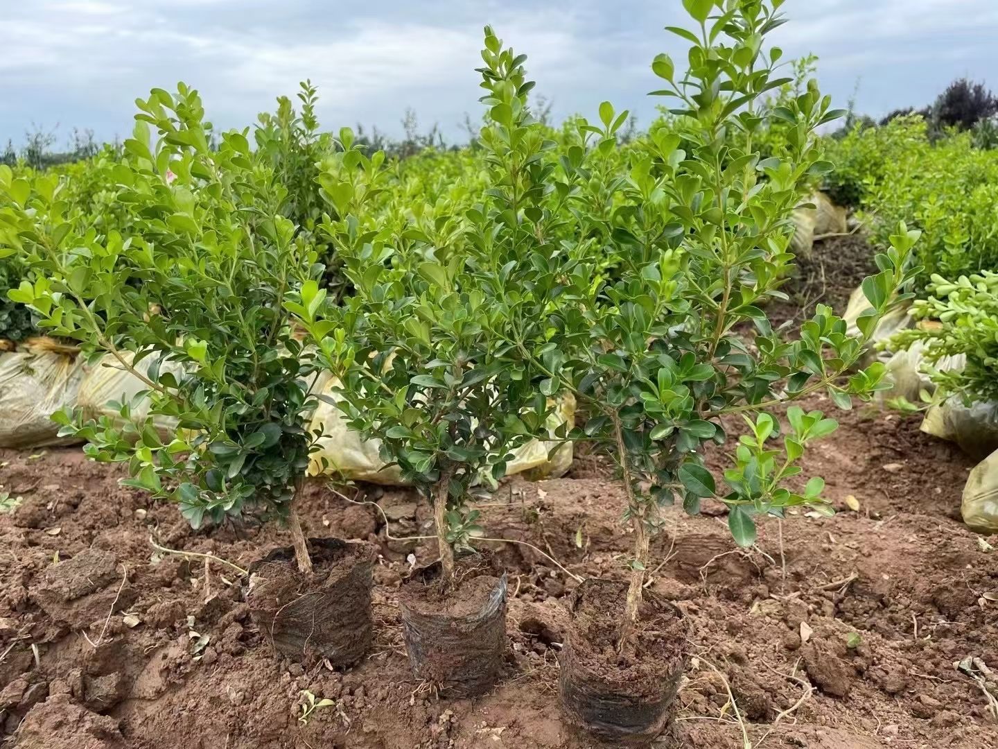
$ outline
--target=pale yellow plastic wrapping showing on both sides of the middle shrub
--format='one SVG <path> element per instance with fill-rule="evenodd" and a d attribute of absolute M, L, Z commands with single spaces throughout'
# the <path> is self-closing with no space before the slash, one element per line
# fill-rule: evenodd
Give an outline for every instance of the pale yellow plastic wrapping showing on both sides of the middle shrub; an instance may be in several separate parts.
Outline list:
<path fill-rule="evenodd" d="M 337 386 L 338 381 L 330 377 L 320 383 L 317 391 L 335 400 Z M 548 426 L 553 431 L 566 422 L 569 428 L 575 425 L 575 398 L 570 394 L 559 399 L 558 408 L 549 417 Z M 359 434 L 347 428 L 342 412 L 335 405 L 320 401 L 308 428 L 322 432 L 318 440 L 319 449 L 311 454 L 308 475 L 325 473 L 386 486 L 405 485 L 398 466 L 385 467 L 379 454 L 380 440 L 361 439 Z M 560 445 L 549 459 L 548 453 L 553 447 L 553 441 L 528 442 L 514 452 L 515 457 L 509 463 L 507 474 L 529 471 L 532 479 L 564 475 L 572 466 L 572 444 L 566 442 Z"/>

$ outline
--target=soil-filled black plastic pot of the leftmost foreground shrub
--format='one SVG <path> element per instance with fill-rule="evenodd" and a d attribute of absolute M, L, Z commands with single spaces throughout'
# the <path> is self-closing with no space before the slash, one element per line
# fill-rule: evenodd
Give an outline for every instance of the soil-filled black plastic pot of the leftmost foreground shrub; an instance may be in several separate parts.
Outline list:
<path fill-rule="evenodd" d="M 366 541 L 310 538 L 308 551 L 311 574 L 298 569 L 289 546 L 250 565 L 250 615 L 277 652 L 350 666 L 373 637 L 371 568 L 377 548 Z"/>

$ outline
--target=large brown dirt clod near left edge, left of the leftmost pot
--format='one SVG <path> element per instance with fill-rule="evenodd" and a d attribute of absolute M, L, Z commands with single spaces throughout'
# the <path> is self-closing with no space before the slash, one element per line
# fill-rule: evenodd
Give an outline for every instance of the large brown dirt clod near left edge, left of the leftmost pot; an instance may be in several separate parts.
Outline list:
<path fill-rule="evenodd" d="M 109 611 L 126 609 L 137 597 L 118 571 L 115 555 L 95 548 L 50 565 L 31 595 L 52 619 L 72 629 L 106 619 Z"/>

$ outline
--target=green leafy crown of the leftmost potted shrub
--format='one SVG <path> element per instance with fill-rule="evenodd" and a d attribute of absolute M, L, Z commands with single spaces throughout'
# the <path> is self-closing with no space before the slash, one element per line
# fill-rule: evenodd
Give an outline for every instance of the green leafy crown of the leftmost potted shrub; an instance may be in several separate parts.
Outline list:
<path fill-rule="evenodd" d="M 250 503 L 284 514 L 308 461 L 312 369 L 282 301 L 321 268 L 246 132 L 213 148 L 201 99 L 183 84 L 137 104 L 135 136 L 111 167 L 125 234 L 76 220 L 65 181 L 0 175 L 2 242 L 35 276 L 9 296 L 148 388 L 147 417 L 119 404 L 124 425 L 59 416 L 88 455 L 127 461 L 126 483 L 172 497 L 196 527 Z M 173 438 L 154 427 L 162 417 L 177 420 Z"/>

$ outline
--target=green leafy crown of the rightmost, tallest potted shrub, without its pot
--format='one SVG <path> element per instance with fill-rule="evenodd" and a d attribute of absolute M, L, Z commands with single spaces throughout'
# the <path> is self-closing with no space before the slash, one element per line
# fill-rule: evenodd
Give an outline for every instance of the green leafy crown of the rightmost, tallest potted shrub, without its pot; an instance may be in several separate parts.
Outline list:
<path fill-rule="evenodd" d="M 771 329 L 760 305 L 778 295 L 792 261 L 791 212 L 808 181 L 830 166 L 820 160 L 814 131 L 839 113 L 813 82 L 773 112 L 761 111 L 774 83 L 762 41 L 780 22 L 779 3 L 726 4 L 724 12 L 708 5 L 711 20 L 699 34 L 673 30 L 694 44 L 689 71 L 676 74 L 661 55 L 653 66 L 668 85 L 658 93 L 675 101 L 682 132 L 654 133 L 628 155 L 626 179 L 608 175 L 609 184 L 600 186 L 613 194 L 605 214 L 578 212 L 577 234 L 601 236 L 606 245 L 580 244 L 577 275 L 566 282 L 576 286 L 565 295 L 556 334 L 564 343 L 536 356 L 591 407 L 575 436 L 597 441 L 618 460 L 638 525 L 658 529 L 659 507 L 676 497 L 697 512 L 702 498 L 718 495 L 730 507 L 736 539 L 750 544 L 753 517 L 822 506 L 819 483 L 801 492 L 781 484 L 797 472 L 804 445 L 835 422 L 791 411 L 789 428 L 781 429 L 774 416 L 760 413 L 725 474 L 727 489 L 703 466 L 703 446 L 725 441 L 725 413 L 760 411 L 816 391 L 848 407 L 853 396 L 868 398 L 882 387 L 880 364 L 847 373 L 879 316 L 904 299 L 896 292 L 911 280 L 904 268 L 917 234 L 895 236 L 881 273 L 868 281 L 873 311 L 860 321 L 861 336 L 847 336 L 844 321 L 824 306 L 798 336 Z M 786 124 L 785 146 L 761 159 L 748 136 L 772 117 Z M 601 151 L 616 148 L 608 132 L 600 135 L 586 156 L 596 165 Z M 588 164 L 582 172 L 576 190 L 584 198 L 597 191 L 597 172 Z M 613 281 L 599 280 L 607 251 L 616 259 Z M 735 333 L 744 323 L 756 328 L 752 347 Z M 782 446 L 770 446 L 779 436 Z"/>

